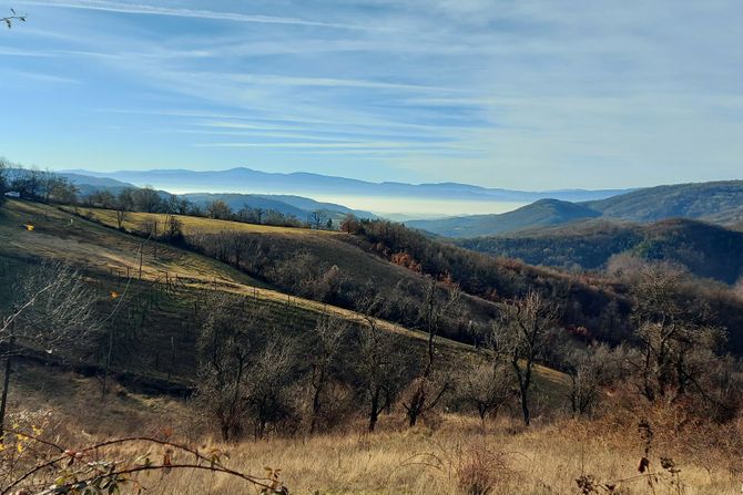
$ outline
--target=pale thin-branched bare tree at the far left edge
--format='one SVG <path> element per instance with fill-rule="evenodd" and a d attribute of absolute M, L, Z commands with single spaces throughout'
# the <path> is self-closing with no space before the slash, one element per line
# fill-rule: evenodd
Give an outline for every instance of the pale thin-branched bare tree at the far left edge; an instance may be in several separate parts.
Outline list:
<path fill-rule="evenodd" d="M 69 265 L 40 264 L 19 278 L 12 293 L 11 311 L 0 323 L 0 344 L 6 360 L 0 432 L 12 358 L 24 348 L 58 353 L 71 347 L 83 347 L 84 337 L 100 324 L 94 311 L 94 293 Z"/>

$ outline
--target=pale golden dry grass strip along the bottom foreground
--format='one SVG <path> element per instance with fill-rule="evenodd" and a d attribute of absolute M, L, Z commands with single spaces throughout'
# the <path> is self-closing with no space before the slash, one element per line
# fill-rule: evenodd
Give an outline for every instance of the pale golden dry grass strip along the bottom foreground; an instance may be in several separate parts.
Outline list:
<path fill-rule="evenodd" d="M 638 477 L 643 448 L 632 439 L 634 433 L 627 431 L 618 440 L 598 435 L 596 425 L 569 420 L 530 430 L 502 421 L 482 432 L 474 419 L 447 416 L 436 431 L 349 432 L 216 446 L 230 453 L 225 463 L 233 468 L 258 475 L 264 466 L 281 468 L 293 494 L 578 494 L 582 492 L 576 479 L 581 475 L 604 483 L 623 481 L 617 487 L 624 492 L 615 493 L 625 494 L 739 489 L 730 472 L 673 448 L 662 455 L 676 460 L 678 483 L 659 474 L 651 486 L 648 477 Z M 662 473 L 659 458 L 651 460 L 651 468 Z M 246 493 L 241 482 L 213 475 L 150 476 L 147 481 L 150 493 Z"/>

